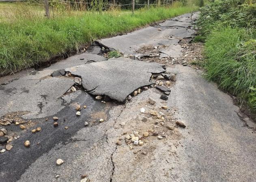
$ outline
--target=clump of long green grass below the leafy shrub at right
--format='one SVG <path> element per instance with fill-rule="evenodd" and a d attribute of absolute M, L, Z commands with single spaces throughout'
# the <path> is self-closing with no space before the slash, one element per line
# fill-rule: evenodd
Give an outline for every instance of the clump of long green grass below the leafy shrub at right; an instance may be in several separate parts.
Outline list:
<path fill-rule="evenodd" d="M 206 77 L 256 111 L 256 31 L 218 27 L 207 36 Z"/>

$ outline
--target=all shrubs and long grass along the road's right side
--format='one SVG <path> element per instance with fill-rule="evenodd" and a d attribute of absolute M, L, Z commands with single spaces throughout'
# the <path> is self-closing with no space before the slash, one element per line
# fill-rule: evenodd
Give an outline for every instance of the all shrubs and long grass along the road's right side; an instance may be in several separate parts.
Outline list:
<path fill-rule="evenodd" d="M 206 78 L 256 111 L 255 0 L 215 0 L 200 9 L 195 40 L 205 42 Z"/>

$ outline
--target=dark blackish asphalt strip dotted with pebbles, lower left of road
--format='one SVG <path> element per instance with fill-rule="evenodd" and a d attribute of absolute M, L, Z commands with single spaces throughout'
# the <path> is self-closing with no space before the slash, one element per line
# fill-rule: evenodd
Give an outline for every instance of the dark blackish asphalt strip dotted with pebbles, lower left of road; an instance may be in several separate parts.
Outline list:
<path fill-rule="evenodd" d="M 93 113 L 104 112 L 108 117 L 108 111 L 115 105 L 114 103 L 103 104 L 96 101 L 84 91 L 73 102 L 79 102 L 81 106 L 86 105 L 87 108 L 81 110 L 79 117 L 75 116 L 76 110 L 71 105 L 54 114 L 59 118 L 58 127 L 53 126 L 52 116 L 47 117 L 48 121 L 45 121 L 45 118 L 32 120 L 36 124 L 28 130 L 21 130 L 19 125 L 14 124 L 5 127 L 8 132 L 16 133 L 20 138 L 13 139 L 11 142 L 13 148 L 10 151 L 0 153 L 0 177 L 2 179 L 0 181 L 17 181 L 30 164 L 42 154 L 51 150 L 56 144 L 65 145 L 70 142 L 71 136 L 84 127 L 85 121 L 89 123 L 88 127 L 99 124 L 97 117 L 92 115 Z M 65 129 L 65 126 L 68 129 Z M 41 127 L 41 131 L 32 133 L 31 130 L 37 127 Z M 30 141 L 29 148 L 24 146 L 26 140 Z M 2 149 L 3 146 L 0 148 Z"/>

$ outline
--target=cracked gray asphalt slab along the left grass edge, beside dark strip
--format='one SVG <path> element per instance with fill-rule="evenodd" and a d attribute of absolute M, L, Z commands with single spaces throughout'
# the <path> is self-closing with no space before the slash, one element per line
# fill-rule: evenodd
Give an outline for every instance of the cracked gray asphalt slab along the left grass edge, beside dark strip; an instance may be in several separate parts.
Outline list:
<path fill-rule="evenodd" d="M 62 95 L 75 83 L 71 78 L 54 77 L 65 73 L 65 68 L 84 65 L 91 62 L 104 61 L 104 57 L 82 53 L 58 61 L 40 71 L 33 71 L 19 75 L 19 78 L 0 78 L 0 116 L 17 111 L 27 111 L 24 118 L 41 118 L 60 111 Z M 57 74 L 57 75 L 56 75 Z M 7 81 L 4 81 L 7 78 Z"/>

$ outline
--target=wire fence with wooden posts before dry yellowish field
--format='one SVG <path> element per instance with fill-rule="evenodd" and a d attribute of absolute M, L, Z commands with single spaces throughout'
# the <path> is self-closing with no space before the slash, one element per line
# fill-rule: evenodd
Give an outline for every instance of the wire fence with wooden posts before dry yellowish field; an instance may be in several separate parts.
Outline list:
<path fill-rule="evenodd" d="M 19 9 L 22 12 L 34 11 L 46 17 L 60 12 L 127 10 L 134 13 L 139 8 L 170 6 L 173 3 L 174 0 L 0 0 L 0 16 Z"/>

